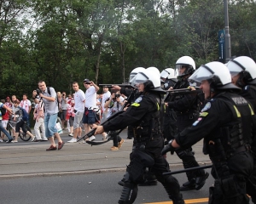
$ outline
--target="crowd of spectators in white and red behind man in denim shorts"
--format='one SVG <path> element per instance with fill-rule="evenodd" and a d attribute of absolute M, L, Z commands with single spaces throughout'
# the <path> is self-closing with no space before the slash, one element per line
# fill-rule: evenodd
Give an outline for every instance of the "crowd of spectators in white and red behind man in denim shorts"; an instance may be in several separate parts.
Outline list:
<path fill-rule="evenodd" d="M 85 133 L 90 132 L 90 127 L 95 123 L 104 122 L 113 112 L 119 111 L 120 107 L 124 103 L 125 95 L 117 93 L 110 93 L 108 87 L 102 87 L 102 94 L 98 94 L 100 88 L 89 79 L 84 79 L 84 91 L 79 89 L 79 83 L 73 82 L 73 94 L 66 94 L 66 92 L 57 92 L 56 101 L 58 104 L 58 117 L 61 120 L 61 128 L 68 131 L 68 136 L 72 137 L 69 143 L 77 142 L 82 136 L 84 130 Z M 116 97 L 117 96 L 117 97 Z M 23 94 L 22 100 L 17 99 L 15 95 L 7 96 L 2 99 L 3 105 L 9 107 L 13 114 L 17 112 L 17 107 L 24 109 L 28 116 L 32 118 L 27 118 L 24 123 L 31 127 L 32 120 L 34 121 L 34 133 L 28 133 L 33 142 L 47 141 L 45 137 L 45 127 L 44 127 L 44 103 L 42 101 L 31 101 L 28 99 L 28 94 Z M 15 105 L 16 104 L 16 105 Z M 22 114 L 22 111 L 19 111 Z M 32 114 L 31 114 L 32 112 Z M 3 128 L 6 129 L 7 124 L 11 121 L 12 114 L 6 111 L 2 116 Z M 21 118 L 21 116 L 20 116 Z M 16 123 L 12 121 L 12 131 L 10 135 L 13 135 L 12 142 L 18 142 L 17 133 L 18 130 L 15 129 Z M 22 126 L 19 126 L 22 132 Z M 102 133 L 102 139 L 105 140 L 108 133 Z M 8 139 L 6 133 L 1 133 L 0 142 Z M 90 141 L 94 140 L 95 137 L 89 138 Z M 124 140 L 118 138 L 118 142 L 115 141 L 111 150 L 119 150 L 121 144 Z"/>

